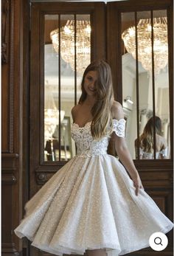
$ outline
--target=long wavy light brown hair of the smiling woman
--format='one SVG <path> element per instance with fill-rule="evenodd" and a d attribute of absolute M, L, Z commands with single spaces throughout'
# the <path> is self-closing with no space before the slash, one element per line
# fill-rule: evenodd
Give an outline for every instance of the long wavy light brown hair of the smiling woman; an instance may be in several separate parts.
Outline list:
<path fill-rule="evenodd" d="M 91 108 L 91 115 L 93 117 L 91 135 L 94 139 L 100 140 L 102 136 L 110 136 L 113 129 L 111 105 L 114 101 L 114 91 L 112 87 L 111 67 L 104 60 L 95 60 L 87 66 L 81 83 L 82 94 L 78 102 L 79 104 L 86 100 L 87 93 L 84 89 L 84 82 L 87 73 L 90 71 L 97 72 L 97 81 L 94 85 L 97 88 L 94 94 L 96 103 Z"/>

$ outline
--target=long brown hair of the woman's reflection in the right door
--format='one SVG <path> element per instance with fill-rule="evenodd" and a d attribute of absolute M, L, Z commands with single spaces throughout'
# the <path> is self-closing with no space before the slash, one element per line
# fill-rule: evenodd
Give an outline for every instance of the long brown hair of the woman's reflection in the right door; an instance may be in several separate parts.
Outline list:
<path fill-rule="evenodd" d="M 141 148 L 148 153 L 153 152 L 153 117 L 147 121 L 142 135 L 139 138 Z M 161 119 L 155 116 L 156 134 L 162 135 Z"/>

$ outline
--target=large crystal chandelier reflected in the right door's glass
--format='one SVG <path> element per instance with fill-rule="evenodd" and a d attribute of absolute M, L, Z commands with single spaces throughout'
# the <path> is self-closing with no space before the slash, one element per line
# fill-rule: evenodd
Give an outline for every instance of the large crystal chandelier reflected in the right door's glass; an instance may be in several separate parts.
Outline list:
<path fill-rule="evenodd" d="M 138 57 L 144 69 L 152 72 L 152 26 L 150 19 L 140 19 L 137 24 Z M 122 32 L 125 48 L 136 59 L 136 28 Z M 159 74 L 167 66 L 167 17 L 153 18 L 154 72 Z"/>

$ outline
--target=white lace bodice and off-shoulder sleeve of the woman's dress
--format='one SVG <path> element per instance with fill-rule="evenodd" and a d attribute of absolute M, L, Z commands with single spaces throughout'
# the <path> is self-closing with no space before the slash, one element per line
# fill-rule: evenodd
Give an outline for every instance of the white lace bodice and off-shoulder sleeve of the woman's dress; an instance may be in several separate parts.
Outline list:
<path fill-rule="evenodd" d="M 125 136 L 125 120 L 113 119 L 113 131 L 117 136 Z M 79 127 L 72 123 L 72 139 L 77 145 L 77 156 L 98 156 L 107 154 L 108 136 L 103 136 L 100 141 L 93 139 L 91 135 L 91 122 L 87 122 L 84 127 Z"/>

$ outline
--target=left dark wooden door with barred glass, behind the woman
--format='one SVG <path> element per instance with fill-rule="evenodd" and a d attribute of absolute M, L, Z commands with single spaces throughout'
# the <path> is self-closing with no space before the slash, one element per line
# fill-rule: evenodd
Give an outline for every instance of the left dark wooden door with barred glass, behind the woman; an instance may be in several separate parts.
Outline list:
<path fill-rule="evenodd" d="M 83 63 L 78 27 L 90 24 L 91 31 L 83 35 L 88 63 Z M 64 28 L 72 29 L 68 46 Z M 72 27 L 69 27 L 72 26 Z M 58 34 L 58 48 L 52 44 L 51 33 Z M 69 35 L 70 37 L 70 35 Z M 56 44 L 56 43 L 55 43 Z M 59 47 L 60 45 L 60 47 Z M 72 49 L 72 48 L 74 49 Z M 71 48 L 72 52 L 69 51 Z M 72 54 L 72 55 L 71 55 Z M 67 55 L 72 57 L 67 60 Z M 60 56 L 60 58 L 58 58 Z M 78 58 L 79 57 L 79 58 Z M 71 108 L 77 103 L 82 67 L 91 60 L 105 58 L 104 3 L 32 3 L 30 53 L 30 167 L 29 196 L 74 156 L 75 146 L 70 136 Z M 54 116 L 54 109 L 57 114 Z M 56 119 L 49 123 L 50 113 Z M 59 115 L 58 115 L 59 113 Z M 58 115 L 56 117 L 56 115 Z M 53 130 L 52 130 L 53 129 Z M 50 131 L 52 130 L 50 136 Z M 54 138 L 53 138 L 54 137 Z M 59 143 L 60 142 L 60 143 Z M 31 246 L 30 255 L 45 255 Z"/>

